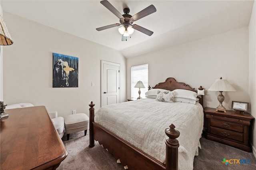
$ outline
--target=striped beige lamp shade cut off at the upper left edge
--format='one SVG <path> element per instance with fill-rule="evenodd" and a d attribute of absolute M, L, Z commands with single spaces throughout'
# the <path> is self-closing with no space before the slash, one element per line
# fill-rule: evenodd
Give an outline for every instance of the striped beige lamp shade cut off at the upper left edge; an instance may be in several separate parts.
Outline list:
<path fill-rule="evenodd" d="M 7 30 L 4 19 L 0 16 L 0 45 L 12 45 L 12 38 Z"/>

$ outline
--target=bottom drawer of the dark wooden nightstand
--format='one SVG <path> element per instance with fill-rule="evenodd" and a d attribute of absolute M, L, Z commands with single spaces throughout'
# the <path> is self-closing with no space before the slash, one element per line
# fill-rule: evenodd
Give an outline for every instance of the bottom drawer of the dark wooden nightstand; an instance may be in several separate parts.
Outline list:
<path fill-rule="evenodd" d="M 242 133 L 226 130 L 222 128 L 210 127 L 211 134 L 218 135 L 223 138 L 229 138 L 239 142 L 243 142 L 244 135 Z"/>

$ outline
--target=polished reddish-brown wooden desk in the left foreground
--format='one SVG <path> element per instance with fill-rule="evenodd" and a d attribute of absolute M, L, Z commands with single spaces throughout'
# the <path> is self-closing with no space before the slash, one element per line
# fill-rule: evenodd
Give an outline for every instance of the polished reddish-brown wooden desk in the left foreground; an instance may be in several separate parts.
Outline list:
<path fill-rule="evenodd" d="M 8 109 L 1 119 L 2 170 L 55 170 L 68 152 L 44 106 Z"/>

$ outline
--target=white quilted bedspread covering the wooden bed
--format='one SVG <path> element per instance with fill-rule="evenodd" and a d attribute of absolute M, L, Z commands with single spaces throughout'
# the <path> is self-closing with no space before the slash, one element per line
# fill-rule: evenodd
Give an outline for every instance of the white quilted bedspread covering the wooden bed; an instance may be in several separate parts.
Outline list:
<path fill-rule="evenodd" d="M 199 103 L 165 103 L 146 98 L 102 107 L 94 121 L 162 163 L 166 156 L 164 130 L 173 123 L 180 131 L 178 168 L 192 170 L 204 113 Z"/>

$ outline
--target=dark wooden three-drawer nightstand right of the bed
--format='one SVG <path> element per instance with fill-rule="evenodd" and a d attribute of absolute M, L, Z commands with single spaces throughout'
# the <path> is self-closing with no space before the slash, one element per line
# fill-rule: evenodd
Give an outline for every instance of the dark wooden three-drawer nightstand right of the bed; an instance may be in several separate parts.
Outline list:
<path fill-rule="evenodd" d="M 241 150 L 251 152 L 249 128 L 254 117 L 249 113 L 216 112 L 215 108 L 204 108 L 207 122 L 206 139 L 215 140 Z"/>

